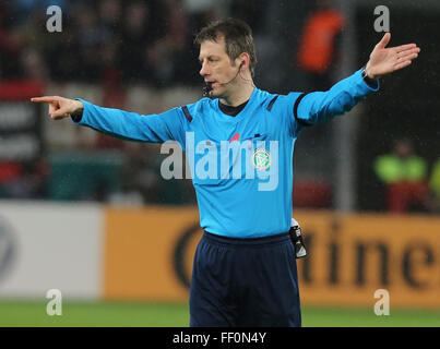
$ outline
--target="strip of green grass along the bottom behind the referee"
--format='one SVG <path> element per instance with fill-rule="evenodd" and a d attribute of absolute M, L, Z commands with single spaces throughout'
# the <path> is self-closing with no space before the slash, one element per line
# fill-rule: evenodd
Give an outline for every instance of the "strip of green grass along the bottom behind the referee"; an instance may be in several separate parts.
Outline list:
<path fill-rule="evenodd" d="M 440 326 L 440 311 L 391 309 L 389 316 L 376 316 L 372 309 L 302 309 L 305 327 L 397 327 Z M 46 314 L 46 303 L 1 301 L 0 326 L 188 326 L 188 304 L 69 302 L 61 316 Z"/>

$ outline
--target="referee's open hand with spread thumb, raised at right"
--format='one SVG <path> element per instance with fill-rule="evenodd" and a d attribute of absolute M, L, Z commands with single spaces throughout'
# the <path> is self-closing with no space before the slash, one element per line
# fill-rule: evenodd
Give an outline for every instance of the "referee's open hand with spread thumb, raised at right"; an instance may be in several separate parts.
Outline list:
<path fill-rule="evenodd" d="M 385 33 L 370 55 L 366 65 L 366 73 L 371 79 L 378 79 L 396 70 L 408 67 L 418 57 L 420 48 L 416 44 L 389 47 L 391 33 Z"/>

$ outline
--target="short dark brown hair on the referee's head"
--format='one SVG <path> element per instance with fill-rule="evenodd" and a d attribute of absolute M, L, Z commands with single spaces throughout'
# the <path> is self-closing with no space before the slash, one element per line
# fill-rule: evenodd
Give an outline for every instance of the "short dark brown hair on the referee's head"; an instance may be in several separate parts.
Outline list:
<path fill-rule="evenodd" d="M 246 22 L 236 19 L 215 21 L 199 32 L 195 36 L 194 44 L 200 46 L 206 40 L 217 41 L 219 37 L 225 38 L 226 53 L 229 56 L 230 60 L 234 61 L 242 52 L 249 55 L 249 70 L 253 77 L 257 65 L 257 55 L 250 26 Z"/>

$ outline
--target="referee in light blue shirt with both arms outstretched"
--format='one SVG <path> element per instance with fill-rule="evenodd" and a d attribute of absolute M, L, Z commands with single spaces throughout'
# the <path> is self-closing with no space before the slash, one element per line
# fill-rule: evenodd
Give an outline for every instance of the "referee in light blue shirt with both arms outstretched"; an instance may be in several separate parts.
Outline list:
<path fill-rule="evenodd" d="M 390 38 L 387 33 L 365 68 L 329 91 L 276 95 L 254 86 L 250 27 L 227 19 L 195 37 L 205 97 L 194 104 L 145 117 L 83 99 L 53 96 L 32 101 L 49 104 L 52 119 L 71 117 L 76 124 L 129 141 L 177 141 L 183 151 L 189 151 L 190 134 L 206 148 L 221 149 L 225 142 L 248 144 L 252 154 L 238 166 L 238 177 L 206 177 L 198 173 L 198 166 L 191 168 L 204 233 L 193 263 L 190 325 L 300 326 L 295 250 L 288 234 L 294 144 L 304 128 L 349 111 L 379 89 L 380 76 L 409 65 L 418 56 L 415 44 L 387 48 Z M 193 156 L 198 164 L 205 155 Z M 229 170 L 237 171 L 237 154 L 228 159 Z M 249 163 L 259 176 L 247 176 Z M 214 170 L 218 174 L 219 166 Z M 276 185 L 262 190 L 260 174 L 267 171 L 277 176 Z"/>

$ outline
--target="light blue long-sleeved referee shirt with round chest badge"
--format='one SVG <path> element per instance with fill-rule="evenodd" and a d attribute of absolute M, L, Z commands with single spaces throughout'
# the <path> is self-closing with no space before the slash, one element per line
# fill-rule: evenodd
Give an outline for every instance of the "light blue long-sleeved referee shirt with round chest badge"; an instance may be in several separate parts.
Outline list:
<path fill-rule="evenodd" d="M 328 92 L 284 96 L 254 88 L 236 117 L 210 98 L 151 116 L 80 99 L 84 111 L 75 122 L 124 140 L 177 141 L 191 167 L 200 226 L 219 236 L 257 238 L 289 230 L 300 130 L 349 111 L 378 89 L 379 83 L 364 81 L 361 70 Z"/>

